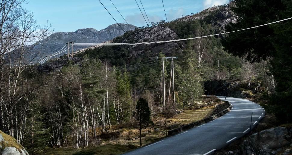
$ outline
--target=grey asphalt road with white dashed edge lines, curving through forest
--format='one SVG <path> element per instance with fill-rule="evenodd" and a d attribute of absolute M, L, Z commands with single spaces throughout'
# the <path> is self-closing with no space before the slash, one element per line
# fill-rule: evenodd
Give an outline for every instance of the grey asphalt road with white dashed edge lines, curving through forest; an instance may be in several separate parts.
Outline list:
<path fill-rule="evenodd" d="M 225 100 L 225 97 L 218 98 Z M 230 97 L 227 97 L 227 101 L 233 105 L 233 109 L 224 116 L 126 154 L 212 154 L 249 132 L 252 112 L 251 128 L 265 114 L 265 110 L 254 102 Z"/>

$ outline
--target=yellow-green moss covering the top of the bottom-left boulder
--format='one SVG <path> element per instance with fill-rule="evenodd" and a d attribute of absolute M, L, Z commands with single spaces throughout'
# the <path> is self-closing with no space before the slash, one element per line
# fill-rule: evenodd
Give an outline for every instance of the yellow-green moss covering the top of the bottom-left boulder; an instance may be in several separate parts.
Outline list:
<path fill-rule="evenodd" d="M 4 138 L 4 141 L 0 142 L 2 149 L 4 149 L 5 147 L 15 147 L 19 152 L 21 152 L 21 150 L 24 150 L 23 146 L 17 143 L 17 140 L 15 138 L 9 135 L 6 135 L 1 130 L 0 130 L 0 134 Z"/>

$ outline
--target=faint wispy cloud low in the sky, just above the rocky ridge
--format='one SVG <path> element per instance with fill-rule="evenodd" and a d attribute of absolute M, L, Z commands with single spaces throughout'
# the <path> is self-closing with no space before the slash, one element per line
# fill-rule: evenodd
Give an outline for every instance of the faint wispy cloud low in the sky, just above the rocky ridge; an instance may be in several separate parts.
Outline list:
<path fill-rule="evenodd" d="M 168 13 L 166 13 L 166 17 L 167 17 L 167 20 L 171 21 L 171 20 L 174 20 L 176 18 L 180 18 L 182 17 L 183 15 L 185 15 L 185 10 L 183 8 L 179 8 L 178 10 L 173 10 L 173 9 L 170 9 L 169 11 L 167 11 Z M 150 22 L 159 22 L 160 20 L 165 20 L 165 17 L 164 16 L 159 16 L 159 15 L 148 15 L 148 18 L 150 20 Z M 147 17 L 146 15 L 144 14 L 144 17 L 145 19 L 147 20 Z M 140 25 L 146 25 L 146 22 L 142 16 L 142 14 L 140 13 L 136 13 L 136 14 L 133 14 L 133 15 L 128 15 L 125 17 L 125 19 L 127 20 L 127 22 L 129 24 L 133 24 L 133 25 L 136 25 L 136 26 L 140 26 Z M 147 23 L 148 23 L 148 20 L 147 20 Z"/>

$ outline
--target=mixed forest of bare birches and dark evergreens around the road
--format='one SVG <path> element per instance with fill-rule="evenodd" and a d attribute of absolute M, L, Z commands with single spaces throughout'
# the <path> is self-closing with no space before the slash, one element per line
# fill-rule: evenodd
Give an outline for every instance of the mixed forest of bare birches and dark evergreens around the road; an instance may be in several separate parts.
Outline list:
<path fill-rule="evenodd" d="M 232 11 L 238 22 L 231 23 L 226 31 L 291 17 L 288 0 L 254 0 L 248 5 L 246 1 L 234 0 Z M 242 33 L 181 41 L 180 50 L 172 53 L 150 45 L 141 45 L 144 53 L 137 57 L 132 57 L 130 46 L 93 48 L 74 55 L 82 58 L 78 64 L 68 60 L 61 70 L 44 73 L 37 69 L 38 64 L 30 65 L 30 51 L 51 34 L 50 25 L 37 25 L 33 14 L 21 7 L 22 2 L 0 4 L 0 129 L 32 154 L 46 147 L 101 145 L 103 136 L 116 128 L 138 128 L 142 120 L 137 117 L 139 108 L 149 108 L 145 112 L 151 116 L 145 118 L 148 125 L 157 115 L 171 118 L 177 109 L 200 108 L 198 102 L 207 92 L 259 96 L 268 101 L 262 106 L 270 113 L 283 123 L 291 122 L 291 21 L 285 21 L 284 28 L 283 23 L 277 23 Z M 200 20 L 152 23 L 113 42 L 135 42 L 134 36 L 153 27 L 168 27 L 179 39 L 217 34 L 221 27 L 214 27 L 212 22 L 225 7 Z M 232 92 L 239 93 L 236 96 Z"/>

